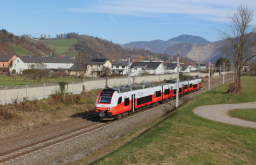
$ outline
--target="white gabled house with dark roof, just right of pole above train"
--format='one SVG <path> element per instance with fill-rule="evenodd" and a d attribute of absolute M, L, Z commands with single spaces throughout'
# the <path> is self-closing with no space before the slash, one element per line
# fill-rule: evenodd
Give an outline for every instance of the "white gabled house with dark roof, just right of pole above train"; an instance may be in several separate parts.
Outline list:
<path fill-rule="evenodd" d="M 165 67 L 161 62 L 134 62 L 131 65 L 131 76 L 148 74 L 164 74 Z"/>

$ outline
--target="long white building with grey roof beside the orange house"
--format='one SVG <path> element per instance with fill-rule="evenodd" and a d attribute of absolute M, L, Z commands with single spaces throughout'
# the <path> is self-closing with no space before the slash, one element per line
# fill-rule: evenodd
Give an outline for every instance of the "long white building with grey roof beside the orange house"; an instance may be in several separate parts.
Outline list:
<path fill-rule="evenodd" d="M 13 67 L 16 73 L 19 74 L 24 69 L 29 69 L 31 65 L 44 64 L 49 70 L 58 70 L 60 68 L 68 70 L 74 65 L 74 59 L 69 58 L 54 58 L 45 56 L 19 56 L 13 61 Z"/>

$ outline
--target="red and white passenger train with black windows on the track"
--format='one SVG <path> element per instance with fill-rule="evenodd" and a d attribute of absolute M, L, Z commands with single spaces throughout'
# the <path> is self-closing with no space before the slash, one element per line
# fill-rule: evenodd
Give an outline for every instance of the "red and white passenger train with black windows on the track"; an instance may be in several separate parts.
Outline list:
<path fill-rule="evenodd" d="M 179 95 L 202 88 L 200 77 L 189 77 L 179 81 Z M 95 116 L 101 120 L 114 120 L 134 113 L 145 107 L 156 106 L 167 102 L 177 95 L 176 80 L 168 80 L 164 84 L 134 84 L 102 90 L 95 102 Z"/>

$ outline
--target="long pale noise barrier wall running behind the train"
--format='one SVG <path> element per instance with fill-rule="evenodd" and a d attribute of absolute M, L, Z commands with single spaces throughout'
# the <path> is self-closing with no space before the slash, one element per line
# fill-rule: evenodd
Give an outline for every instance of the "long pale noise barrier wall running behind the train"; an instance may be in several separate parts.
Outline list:
<path fill-rule="evenodd" d="M 197 76 L 198 72 L 186 73 L 184 75 Z M 205 77 L 207 73 L 200 73 L 201 77 Z M 219 75 L 215 72 L 214 75 Z M 177 74 L 159 74 L 159 75 L 143 75 L 131 77 L 131 83 L 142 83 L 142 82 L 152 82 L 152 81 L 163 81 L 164 79 L 176 79 Z M 83 81 L 69 82 L 65 86 L 66 92 L 72 92 L 74 94 L 81 93 L 83 91 L 83 85 L 86 91 L 94 90 L 97 88 L 105 88 L 106 83 L 109 87 L 113 86 L 123 86 L 128 84 L 128 77 L 108 77 L 99 79 L 86 79 Z M 5 104 L 12 102 L 13 99 L 22 99 L 24 97 L 29 100 L 32 99 L 42 99 L 47 98 L 52 95 L 55 91 L 60 90 L 58 83 L 48 83 L 48 84 L 29 84 L 21 86 L 4 86 L 0 87 L 0 104 Z"/>

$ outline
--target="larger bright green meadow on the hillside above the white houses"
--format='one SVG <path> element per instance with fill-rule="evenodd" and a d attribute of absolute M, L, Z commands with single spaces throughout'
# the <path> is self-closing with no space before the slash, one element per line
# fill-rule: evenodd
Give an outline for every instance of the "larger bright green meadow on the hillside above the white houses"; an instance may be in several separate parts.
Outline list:
<path fill-rule="evenodd" d="M 38 42 L 36 40 L 31 40 Z M 78 42 L 78 39 L 63 39 L 63 40 L 40 40 L 45 45 L 49 45 L 52 49 L 55 49 L 58 54 L 65 54 L 67 56 L 76 56 L 77 51 L 69 51 L 68 49 Z"/>

